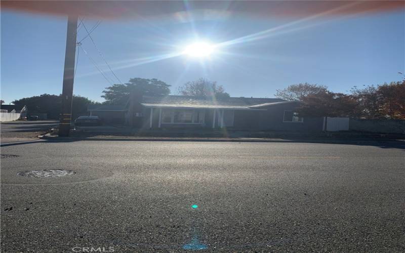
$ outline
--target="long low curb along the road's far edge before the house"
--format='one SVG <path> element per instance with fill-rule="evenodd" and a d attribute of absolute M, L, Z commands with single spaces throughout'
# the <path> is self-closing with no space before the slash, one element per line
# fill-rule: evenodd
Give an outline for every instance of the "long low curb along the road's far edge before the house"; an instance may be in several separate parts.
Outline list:
<path fill-rule="evenodd" d="M 271 143 L 368 143 L 368 142 L 395 142 L 403 143 L 400 140 L 269 140 L 269 139 L 194 139 L 194 138 L 92 138 L 92 137 L 59 137 L 52 135 L 40 135 L 39 139 L 53 141 L 173 141 L 173 142 L 271 142 Z"/>

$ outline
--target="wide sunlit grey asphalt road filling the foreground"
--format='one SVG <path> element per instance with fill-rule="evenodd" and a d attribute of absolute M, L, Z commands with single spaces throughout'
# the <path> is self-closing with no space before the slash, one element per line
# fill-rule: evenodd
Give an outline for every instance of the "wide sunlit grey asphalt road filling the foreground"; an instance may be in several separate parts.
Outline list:
<path fill-rule="evenodd" d="M 2 147 L 19 155 L 1 160 L 2 252 L 404 252 L 404 151 L 405 143 Z M 29 170 L 76 174 L 17 176 Z"/>

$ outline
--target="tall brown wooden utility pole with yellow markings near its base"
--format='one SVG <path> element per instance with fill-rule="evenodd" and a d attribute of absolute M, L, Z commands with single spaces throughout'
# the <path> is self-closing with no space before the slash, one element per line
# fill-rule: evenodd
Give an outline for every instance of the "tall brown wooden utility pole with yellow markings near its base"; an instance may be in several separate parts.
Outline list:
<path fill-rule="evenodd" d="M 60 114 L 59 136 L 69 136 L 72 119 L 74 81 L 74 58 L 76 54 L 77 16 L 67 18 L 65 69 L 63 72 L 62 113 Z"/>

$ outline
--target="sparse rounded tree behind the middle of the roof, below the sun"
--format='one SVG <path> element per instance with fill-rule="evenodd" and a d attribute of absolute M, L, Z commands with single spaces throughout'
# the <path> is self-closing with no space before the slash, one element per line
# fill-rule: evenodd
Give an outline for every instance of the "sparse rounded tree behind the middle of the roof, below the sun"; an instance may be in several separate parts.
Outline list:
<path fill-rule="evenodd" d="M 200 78 L 196 81 L 189 81 L 179 87 L 179 93 L 184 96 L 229 98 L 222 85 L 217 85 L 216 81 Z"/>

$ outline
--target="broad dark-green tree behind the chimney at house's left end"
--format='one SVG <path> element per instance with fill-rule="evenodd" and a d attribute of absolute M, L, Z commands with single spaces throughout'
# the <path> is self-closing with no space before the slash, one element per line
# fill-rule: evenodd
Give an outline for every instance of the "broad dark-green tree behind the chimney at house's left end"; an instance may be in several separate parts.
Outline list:
<path fill-rule="evenodd" d="M 129 99 L 131 91 L 138 90 L 143 95 L 165 96 L 170 93 L 170 85 L 156 78 L 131 78 L 124 85 L 113 85 L 105 88 L 104 95 L 101 96 L 106 101 L 104 104 L 125 105 Z"/>

